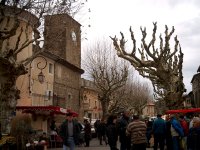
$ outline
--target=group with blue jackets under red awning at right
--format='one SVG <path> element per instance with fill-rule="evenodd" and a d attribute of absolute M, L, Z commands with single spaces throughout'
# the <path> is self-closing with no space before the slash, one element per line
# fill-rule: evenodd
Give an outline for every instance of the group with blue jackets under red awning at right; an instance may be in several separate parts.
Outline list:
<path fill-rule="evenodd" d="M 194 123 L 195 122 L 195 123 Z M 200 118 L 188 115 L 158 114 L 152 125 L 154 150 L 200 150 Z"/>

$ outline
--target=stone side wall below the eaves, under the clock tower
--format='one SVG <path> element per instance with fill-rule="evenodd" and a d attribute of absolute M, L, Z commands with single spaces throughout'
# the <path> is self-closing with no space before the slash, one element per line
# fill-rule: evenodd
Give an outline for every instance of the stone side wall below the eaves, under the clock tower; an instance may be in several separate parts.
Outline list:
<path fill-rule="evenodd" d="M 79 110 L 80 73 L 55 64 L 54 93 L 62 99 L 59 106 Z"/>

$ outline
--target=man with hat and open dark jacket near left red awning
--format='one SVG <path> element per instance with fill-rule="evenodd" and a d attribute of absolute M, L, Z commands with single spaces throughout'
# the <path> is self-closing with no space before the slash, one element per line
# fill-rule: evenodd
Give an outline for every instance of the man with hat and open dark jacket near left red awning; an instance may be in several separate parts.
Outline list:
<path fill-rule="evenodd" d="M 73 114 L 68 112 L 66 120 L 60 126 L 60 136 L 63 140 L 63 150 L 74 150 L 75 144 L 78 144 L 80 128 L 78 123 L 73 120 Z"/>

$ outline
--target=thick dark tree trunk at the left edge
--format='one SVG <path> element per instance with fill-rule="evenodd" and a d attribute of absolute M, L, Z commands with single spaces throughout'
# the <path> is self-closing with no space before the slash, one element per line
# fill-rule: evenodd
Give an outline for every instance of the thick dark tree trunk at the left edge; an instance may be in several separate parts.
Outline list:
<path fill-rule="evenodd" d="M 23 65 L 16 66 L 8 59 L 0 57 L 0 123 L 2 133 L 10 133 L 11 120 L 15 114 L 20 94 L 16 87 L 16 79 L 25 73 L 26 69 Z"/>

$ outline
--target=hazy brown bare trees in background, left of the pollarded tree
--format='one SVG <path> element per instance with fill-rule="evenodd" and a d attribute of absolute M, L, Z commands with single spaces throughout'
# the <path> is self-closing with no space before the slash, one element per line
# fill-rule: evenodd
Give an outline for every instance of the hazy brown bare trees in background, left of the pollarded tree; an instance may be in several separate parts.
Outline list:
<path fill-rule="evenodd" d="M 147 82 L 134 77 L 113 95 L 109 111 L 120 112 L 129 109 L 134 114 L 142 115 L 143 109 L 151 99 L 151 88 Z"/>

